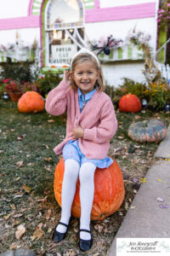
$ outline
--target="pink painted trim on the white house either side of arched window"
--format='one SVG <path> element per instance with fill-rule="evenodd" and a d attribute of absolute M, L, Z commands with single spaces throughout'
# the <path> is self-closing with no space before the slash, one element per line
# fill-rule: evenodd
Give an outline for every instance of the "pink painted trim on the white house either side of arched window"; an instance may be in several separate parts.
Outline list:
<path fill-rule="evenodd" d="M 114 8 L 99 8 L 99 0 L 94 0 L 95 8 L 86 9 L 85 22 L 99 22 L 111 20 L 130 20 L 154 17 L 156 3 L 141 3 Z M 28 15 L 13 19 L 0 19 L 0 30 L 40 27 L 41 16 L 31 15 L 33 0 L 28 6 Z"/>

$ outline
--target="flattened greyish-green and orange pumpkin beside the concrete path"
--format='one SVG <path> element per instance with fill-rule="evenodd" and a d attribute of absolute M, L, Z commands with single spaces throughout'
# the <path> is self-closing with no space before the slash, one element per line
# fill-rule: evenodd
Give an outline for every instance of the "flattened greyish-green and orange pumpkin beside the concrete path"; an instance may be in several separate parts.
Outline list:
<path fill-rule="evenodd" d="M 166 136 L 167 127 L 159 119 L 144 120 L 129 126 L 127 134 L 135 142 L 159 143 Z"/>

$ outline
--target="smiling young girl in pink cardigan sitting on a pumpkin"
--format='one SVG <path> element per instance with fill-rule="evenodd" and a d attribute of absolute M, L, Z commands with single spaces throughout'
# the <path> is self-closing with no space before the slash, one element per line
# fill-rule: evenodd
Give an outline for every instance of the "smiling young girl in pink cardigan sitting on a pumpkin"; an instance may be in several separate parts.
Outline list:
<path fill-rule="evenodd" d="M 71 205 L 80 180 L 81 218 L 79 247 L 92 247 L 90 214 L 94 200 L 96 167 L 111 165 L 107 156 L 110 140 L 116 133 L 117 120 L 111 98 L 105 94 L 105 82 L 99 60 L 88 49 L 81 49 L 71 61 L 71 71 L 48 93 L 46 110 L 53 115 L 67 112 L 66 137 L 54 148 L 63 153 L 65 175 L 61 193 L 61 218 L 54 229 L 54 242 L 65 238 Z"/>

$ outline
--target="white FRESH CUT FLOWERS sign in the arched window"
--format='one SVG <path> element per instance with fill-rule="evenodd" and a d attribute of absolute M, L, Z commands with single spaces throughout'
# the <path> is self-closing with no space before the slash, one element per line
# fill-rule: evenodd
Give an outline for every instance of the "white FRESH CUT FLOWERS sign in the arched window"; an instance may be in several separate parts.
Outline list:
<path fill-rule="evenodd" d="M 71 63 L 73 55 L 77 53 L 76 44 L 52 45 L 52 59 L 56 64 Z"/>

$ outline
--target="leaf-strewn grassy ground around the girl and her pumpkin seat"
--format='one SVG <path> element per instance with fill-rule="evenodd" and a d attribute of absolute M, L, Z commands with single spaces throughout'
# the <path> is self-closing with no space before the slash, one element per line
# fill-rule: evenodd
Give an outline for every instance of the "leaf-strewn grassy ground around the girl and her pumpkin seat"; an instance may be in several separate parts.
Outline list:
<path fill-rule="evenodd" d="M 71 228 L 64 241 L 59 244 L 51 241 L 60 218 L 53 189 L 54 168 L 59 158 L 53 148 L 65 137 L 65 118 L 45 112 L 19 113 L 12 102 L 2 102 L 0 108 L 0 253 L 29 247 L 36 255 L 106 255 L 140 183 L 144 182 L 145 173 L 154 163 L 153 155 L 158 147 L 156 143 L 134 143 L 127 137 L 127 128 L 133 120 L 153 116 L 167 123 L 169 114 L 147 110 L 116 112 L 119 128 L 109 154 L 122 169 L 126 196 L 116 213 L 103 221 L 92 222 L 94 245 L 88 253 L 82 253 L 77 246 L 77 218 L 71 218 Z"/>

